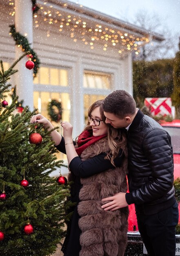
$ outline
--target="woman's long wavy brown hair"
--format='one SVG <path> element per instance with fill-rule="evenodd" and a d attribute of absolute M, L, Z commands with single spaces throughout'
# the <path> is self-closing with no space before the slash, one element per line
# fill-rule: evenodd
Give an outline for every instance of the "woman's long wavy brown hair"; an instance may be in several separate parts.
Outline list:
<path fill-rule="evenodd" d="M 110 124 L 106 124 L 105 120 L 106 117 L 104 116 L 104 111 L 102 109 L 102 103 L 104 100 L 98 100 L 94 102 L 89 110 L 88 110 L 88 116 L 91 116 L 91 112 L 97 108 L 100 107 L 100 116 L 105 125 L 108 127 L 108 133 L 107 133 L 107 139 L 108 139 L 108 146 L 110 150 L 107 152 L 104 144 L 104 152 L 107 154 L 105 159 L 109 159 L 111 161 L 111 164 L 115 166 L 114 164 L 114 159 L 118 156 L 120 149 L 122 149 L 122 153 L 127 157 L 127 140 L 126 140 L 126 135 L 125 132 L 123 132 L 120 129 L 113 128 Z M 87 126 L 84 130 L 88 130 L 89 132 L 92 132 L 93 134 L 93 129 L 89 125 L 89 121 L 87 123 Z M 98 144 L 97 144 L 98 146 Z M 91 146 L 90 146 L 91 147 Z M 99 148 L 100 151 L 100 148 Z"/>

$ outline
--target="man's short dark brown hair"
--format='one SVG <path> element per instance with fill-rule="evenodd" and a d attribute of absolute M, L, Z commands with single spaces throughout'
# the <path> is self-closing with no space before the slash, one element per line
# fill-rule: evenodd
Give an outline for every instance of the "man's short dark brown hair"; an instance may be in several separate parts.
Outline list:
<path fill-rule="evenodd" d="M 113 113 L 122 119 L 135 114 L 136 102 L 125 90 L 116 90 L 104 99 L 102 108 L 104 112 Z"/>

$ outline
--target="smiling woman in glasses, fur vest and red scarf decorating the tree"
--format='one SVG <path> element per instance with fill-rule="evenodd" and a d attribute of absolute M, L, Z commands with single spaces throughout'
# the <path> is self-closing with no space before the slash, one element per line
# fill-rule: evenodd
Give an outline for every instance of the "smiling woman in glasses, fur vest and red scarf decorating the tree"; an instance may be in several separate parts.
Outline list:
<path fill-rule="evenodd" d="M 64 256 L 123 256 L 127 243 L 128 208 L 104 211 L 102 198 L 127 191 L 126 137 L 105 124 L 102 100 L 88 110 L 88 126 L 79 135 L 77 146 L 72 140 L 72 126 L 62 122 L 62 137 L 51 132 L 57 149 L 67 154 L 72 200 L 77 202 L 62 247 Z M 38 114 L 31 123 L 52 124 Z"/>

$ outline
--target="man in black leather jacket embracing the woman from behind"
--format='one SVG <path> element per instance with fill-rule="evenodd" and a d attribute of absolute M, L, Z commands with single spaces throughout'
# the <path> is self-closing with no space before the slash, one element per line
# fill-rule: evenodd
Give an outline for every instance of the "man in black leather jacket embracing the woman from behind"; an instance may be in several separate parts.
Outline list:
<path fill-rule="evenodd" d="M 104 198 L 104 210 L 135 204 L 138 228 L 149 256 L 175 256 L 178 203 L 173 187 L 171 137 L 144 115 L 129 93 L 116 90 L 103 103 L 106 123 L 127 129 L 129 193 Z"/>

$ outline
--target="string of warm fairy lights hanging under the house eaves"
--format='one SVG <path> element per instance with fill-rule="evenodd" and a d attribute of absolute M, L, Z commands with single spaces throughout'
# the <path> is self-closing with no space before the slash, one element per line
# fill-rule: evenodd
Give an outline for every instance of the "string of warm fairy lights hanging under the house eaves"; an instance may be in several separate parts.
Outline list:
<path fill-rule="evenodd" d="M 84 45 L 94 49 L 96 47 L 96 42 L 99 41 L 102 45 L 102 49 L 106 51 L 108 47 L 115 47 L 118 49 L 119 54 L 124 51 L 135 51 L 135 54 L 138 55 L 140 52 L 139 46 L 148 43 L 149 38 L 147 37 L 136 37 L 129 32 L 124 32 L 116 30 L 113 28 L 113 25 L 109 27 L 104 26 L 104 24 L 95 24 L 92 26 L 88 24 L 87 20 L 83 20 L 80 17 L 80 13 L 75 15 L 67 14 L 67 12 L 62 13 L 53 8 L 48 1 L 41 1 L 42 4 L 38 4 L 40 8 L 37 13 L 33 14 L 33 22 L 35 23 L 35 28 L 40 26 L 40 23 L 43 22 L 43 27 L 48 27 L 56 25 L 57 32 L 63 33 L 63 31 L 69 32 L 69 37 L 77 43 L 78 40 L 81 40 Z M 68 8 L 68 3 L 61 3 L 62 7 Z M 14 16 L 16 7 L 14 6 L 13 0 L 9 0 L 9 5 L 12 10 L 9 12 L 9 15 Z M 82 5 L 79 5 L 83 8 Z M 41 17 L 41 18 L 40 18 Z M 43 18 L 42 18 L 43 17 Z M 46 26 L 45 24 L 48 26 Z M 47 30 L 47 37 L 51 36 L 51 29 Z"/>

